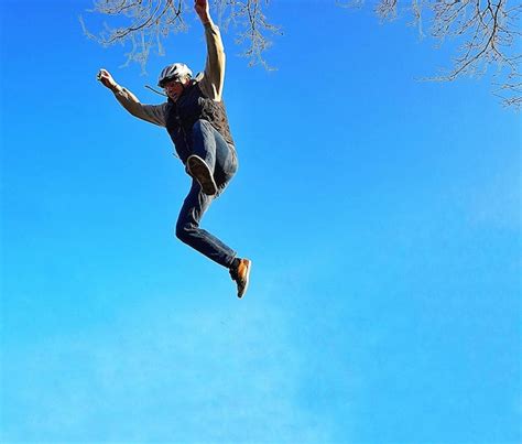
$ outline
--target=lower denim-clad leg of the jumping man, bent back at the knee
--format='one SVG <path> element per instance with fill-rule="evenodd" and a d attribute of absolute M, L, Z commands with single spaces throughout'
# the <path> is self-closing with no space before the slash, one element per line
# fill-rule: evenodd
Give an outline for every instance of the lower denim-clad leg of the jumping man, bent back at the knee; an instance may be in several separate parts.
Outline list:
<path fill-rule="evenodd" d="M 176 237 L 213 261 L 229 268 L 237 255 L 236 251 L 199 228 L 199 221 L 213 199 L 213 196 L 204 194 L 197 181 L 193 180 L 177 218 Z"/>

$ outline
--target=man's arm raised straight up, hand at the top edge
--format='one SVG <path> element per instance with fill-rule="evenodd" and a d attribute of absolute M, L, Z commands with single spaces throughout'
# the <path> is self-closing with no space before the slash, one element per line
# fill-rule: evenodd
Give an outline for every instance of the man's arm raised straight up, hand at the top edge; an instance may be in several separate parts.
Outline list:
<path fill-rule="evenodd" d="M 208 0 L 195 0 L 194 9 L 205 26 L 207 63 L 200 80 L 203 91 L 216 101 L 221 101 L 225 83 L 225 48 L 219 28 L 213 22 Z"/>

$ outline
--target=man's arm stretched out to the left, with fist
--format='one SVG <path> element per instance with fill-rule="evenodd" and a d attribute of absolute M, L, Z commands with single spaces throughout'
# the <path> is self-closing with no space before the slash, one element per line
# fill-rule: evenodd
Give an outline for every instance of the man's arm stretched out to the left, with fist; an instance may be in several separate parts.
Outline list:
<path fill-rule="evenodd" d="M 135 97 L 129 89 L 118 85 L 110 73 L 106 69 L 100 69 L 98 73 L 98 80 L 115 94 L 121 106 L 132 116 L 160 127 L 165 126 L 165 104 L 142 105 L 140 100 L 138 100 L 138 97 Z"/>

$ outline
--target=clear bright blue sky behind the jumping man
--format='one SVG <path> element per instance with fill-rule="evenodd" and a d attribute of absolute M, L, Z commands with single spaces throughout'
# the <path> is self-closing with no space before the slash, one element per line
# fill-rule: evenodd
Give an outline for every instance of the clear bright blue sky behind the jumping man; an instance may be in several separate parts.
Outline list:
<path fill-rule="evenodd" d="M 203 226 L 253 260 L 239 301 L 174 237 L 166 132 L 95 78 L 157 102 L 200 25 L 141 76 L 90 4 L 0 7 L 0 441 L 520 442 L 521 127 L 489 83 L 415 82 L 449 48 L 334 0 L 271 2 L 273 73 L 225 34 L 240 169 Z"/>

